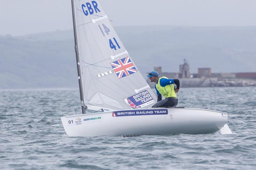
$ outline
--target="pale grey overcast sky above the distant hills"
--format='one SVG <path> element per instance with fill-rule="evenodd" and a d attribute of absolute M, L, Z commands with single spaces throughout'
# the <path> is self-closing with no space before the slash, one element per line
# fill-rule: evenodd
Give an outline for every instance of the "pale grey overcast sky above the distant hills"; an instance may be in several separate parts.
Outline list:
<path fill-rule="evenodd" d="M 255 26 L 256 0 L 100 1 L 113 26 Z M 0 35 L 72 29 L 70 0 L 0 0 Z"/>

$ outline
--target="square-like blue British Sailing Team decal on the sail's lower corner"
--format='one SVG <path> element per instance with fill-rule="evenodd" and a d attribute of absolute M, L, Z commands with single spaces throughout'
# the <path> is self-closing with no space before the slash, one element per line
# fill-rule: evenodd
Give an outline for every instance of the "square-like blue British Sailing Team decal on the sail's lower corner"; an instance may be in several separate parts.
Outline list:
<path fill-rule="evenodd" d="M 140 109 L 150 104 L 156 103 L 148 90 L 141 91 L 132 96 L 124 98 L 124 102 L 132 109 Z"/>

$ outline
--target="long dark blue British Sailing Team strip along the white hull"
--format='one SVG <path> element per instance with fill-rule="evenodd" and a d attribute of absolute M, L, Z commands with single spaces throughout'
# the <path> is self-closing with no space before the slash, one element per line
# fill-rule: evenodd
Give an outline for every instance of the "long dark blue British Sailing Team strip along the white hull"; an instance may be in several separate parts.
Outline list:
<path fill-rule="evenodd" d="M 167 109 L 148 109 L 148 110 L 122 110 L 112 112 L 113 117 L 120 116 L 143 116 L 143 115 L 161 115 L 168 114 Z"/>

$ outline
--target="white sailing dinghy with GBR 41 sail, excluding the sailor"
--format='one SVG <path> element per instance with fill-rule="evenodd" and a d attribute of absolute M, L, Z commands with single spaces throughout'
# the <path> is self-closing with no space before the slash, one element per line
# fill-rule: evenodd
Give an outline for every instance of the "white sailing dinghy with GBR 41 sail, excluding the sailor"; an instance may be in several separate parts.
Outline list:
<path fill-rule="evenodd" d="M 61 117 L 69 136 L 232 133 L 226 112 L 152 108 L 157 98 L 98 0 L 71 0 L 82 114 Z M 87 109 L 98 111 L 86 113 Z M 99 112 L 100 111 L 100 112 Z"/>

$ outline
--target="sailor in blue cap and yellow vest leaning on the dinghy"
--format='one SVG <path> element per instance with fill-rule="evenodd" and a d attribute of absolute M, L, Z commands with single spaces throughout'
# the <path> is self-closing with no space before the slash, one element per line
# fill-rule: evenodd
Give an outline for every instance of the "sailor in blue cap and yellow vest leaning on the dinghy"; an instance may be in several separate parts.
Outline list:
<path fill-rule="evenodd" d="M 156 71 L 152 71 L 147 75 L 151 82 L 155 82 L 155 89 L 157 95 L 157 103 L 152 107 L 175 107 L 178 104 L 176 93 L 180 89 L 180 81 L 178 79 L 168 79 L 167 77 L 160 77 Z M 173 86 L 176 84 L 176 88 Z M 162 95 L 165 97 L 162 100 Z"/>

